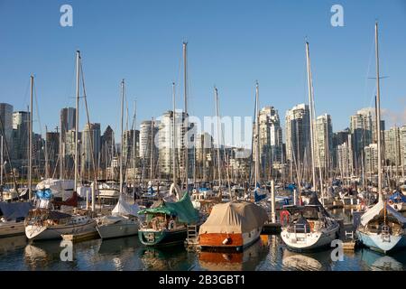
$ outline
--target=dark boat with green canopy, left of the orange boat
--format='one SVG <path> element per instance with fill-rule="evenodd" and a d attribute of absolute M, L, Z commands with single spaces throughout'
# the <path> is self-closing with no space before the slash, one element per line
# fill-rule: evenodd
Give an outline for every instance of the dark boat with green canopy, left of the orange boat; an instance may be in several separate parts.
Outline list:
<path fill-rule="evenodd" d="M 146 246 L 182 243 L 187 238 L 188 225 L 198 223 L 198 210 L 193 208 L 189 193 L 176 202 L 160 200 L 139 214 L 146 215 L 138 230 L 138 238 Z"/>

